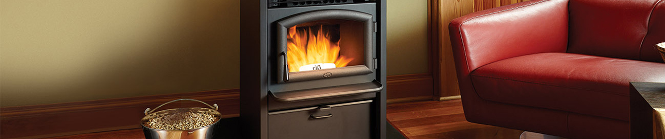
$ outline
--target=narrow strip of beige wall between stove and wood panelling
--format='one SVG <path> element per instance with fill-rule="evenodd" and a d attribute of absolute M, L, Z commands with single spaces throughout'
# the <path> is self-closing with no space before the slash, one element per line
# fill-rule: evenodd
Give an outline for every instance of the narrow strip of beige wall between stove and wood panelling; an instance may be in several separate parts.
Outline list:
<path fill-rule="evenodd" d="M 387 0 L 388 75 L 428 70 L 427 0 Z"/>

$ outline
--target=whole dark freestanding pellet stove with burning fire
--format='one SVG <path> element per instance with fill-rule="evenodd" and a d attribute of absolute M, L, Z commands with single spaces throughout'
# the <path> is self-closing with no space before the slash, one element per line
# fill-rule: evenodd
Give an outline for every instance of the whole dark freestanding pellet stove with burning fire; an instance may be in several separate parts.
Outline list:
<path fill-rule="evenodd" d="M 385 138 L 385 0 L 241 0 L 242 138 Z"/>

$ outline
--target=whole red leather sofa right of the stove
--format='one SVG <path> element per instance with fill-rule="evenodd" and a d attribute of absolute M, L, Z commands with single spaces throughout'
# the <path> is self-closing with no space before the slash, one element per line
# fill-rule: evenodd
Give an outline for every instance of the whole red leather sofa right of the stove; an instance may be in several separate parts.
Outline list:
<path fill-rule="evenodd" d="M 665 0 L 532 0 L 450 23 L 469 122 L 629 138 L 628 84 L 665 82 Z"/>

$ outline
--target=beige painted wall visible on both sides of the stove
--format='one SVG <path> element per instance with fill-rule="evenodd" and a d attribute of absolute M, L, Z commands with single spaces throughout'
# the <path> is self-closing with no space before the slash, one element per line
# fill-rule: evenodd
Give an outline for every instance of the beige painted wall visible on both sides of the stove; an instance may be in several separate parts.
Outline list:
<path fill-rule="evenodd" d="M 391 75 L 426 71 L 418 1 L 388 3 L 418 14 L 388 17 Z M 236 88 L 238 35 L 238 0 L 1 0 L 0 107 Z"/>

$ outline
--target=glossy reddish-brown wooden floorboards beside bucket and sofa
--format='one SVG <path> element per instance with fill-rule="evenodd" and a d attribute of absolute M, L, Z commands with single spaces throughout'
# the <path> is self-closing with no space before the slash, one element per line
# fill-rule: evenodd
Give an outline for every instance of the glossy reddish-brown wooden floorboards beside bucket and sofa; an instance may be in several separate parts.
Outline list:
<path fill-rule="evenodd" d="M 522 134 L 521 130 L 511 130 L 467 122 L 464 119 L 462 101 L 460 99 L 390 104 L 387 107 L 387 118 L 390 124 L 410 139 L 517 139 Z M 144 138 L 144 134 L 143 130 L 139 128 L 56 138 Z"/>

